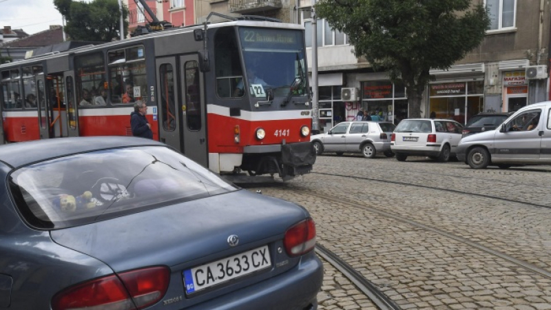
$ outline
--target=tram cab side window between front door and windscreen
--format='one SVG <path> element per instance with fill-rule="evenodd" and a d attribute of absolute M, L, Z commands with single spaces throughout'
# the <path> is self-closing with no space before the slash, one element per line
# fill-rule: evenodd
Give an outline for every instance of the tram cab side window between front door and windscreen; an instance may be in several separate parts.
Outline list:
<path fill-rule="evenodd" d="M 214 63 L 216 66 L 216 94 L 221 98 L 244 96 L 235 92 L 243 83 L 243 73 L 235 29 L 222 28 L 214 37 Z"/>

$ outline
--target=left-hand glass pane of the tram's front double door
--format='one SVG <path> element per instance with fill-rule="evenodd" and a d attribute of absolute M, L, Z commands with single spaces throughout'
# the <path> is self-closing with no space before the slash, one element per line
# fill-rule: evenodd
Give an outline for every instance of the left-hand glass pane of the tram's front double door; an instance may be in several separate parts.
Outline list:
<path fill-rule="evenodd" d="M 174 70 L 167 63 L 159 68 L 160 76 L 160 114 L 163 118 L 163 128 L 167 132 L 176 129 L 176 116 L 174 115 Z"/>

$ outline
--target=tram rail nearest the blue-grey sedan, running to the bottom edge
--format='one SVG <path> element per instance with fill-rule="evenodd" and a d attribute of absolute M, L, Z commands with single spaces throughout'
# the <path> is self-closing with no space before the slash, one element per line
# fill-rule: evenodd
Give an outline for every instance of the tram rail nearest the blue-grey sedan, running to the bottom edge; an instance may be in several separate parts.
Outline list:
<path fill-rule="evenodd" d="M 399 310 L 395 302 L 388 298 L 382 291 L 377 289 L 375 285 L 361 273 L 355 271 L 353 267 L 348 265 L 339 256 L 333 254 L 333 252 L 326 249 L 324 246 L 318 244 L 315 245 L 315 252 L 321 256 L 324 260 L 333 265 L 338 271 L 340 271 L 346 278 L 348 278 L 353 284 L 367 296 L 379 310 Z"/>

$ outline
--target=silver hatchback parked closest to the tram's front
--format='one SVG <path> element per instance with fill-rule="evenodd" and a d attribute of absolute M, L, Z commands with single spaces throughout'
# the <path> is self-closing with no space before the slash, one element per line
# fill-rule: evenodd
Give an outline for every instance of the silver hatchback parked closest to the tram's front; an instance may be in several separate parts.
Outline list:
<path fill-rule="evenodd" d="M 377 153 L 386 157 L 394 156 L 391 151 L 391 134 L 396 126 L 393 123 L 374 121 L 352 121 L 339 123 L 324 134 L 310 137 L 318 155 L 324 152 L 362 153 L 373 158 Z"/>

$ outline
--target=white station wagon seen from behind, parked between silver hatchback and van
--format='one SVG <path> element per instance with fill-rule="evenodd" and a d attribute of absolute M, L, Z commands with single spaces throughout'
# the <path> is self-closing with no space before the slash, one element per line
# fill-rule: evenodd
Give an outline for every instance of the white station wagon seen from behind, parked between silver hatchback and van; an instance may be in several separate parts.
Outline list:
<path fill-rule="evenodd" d="M 446 162 L 455 156 L 461 130 L 461 124 L 449 119 L 404 119 L 392 134 L 391 149 L 398 161 L 408 156 L 428 156 Z"/>

